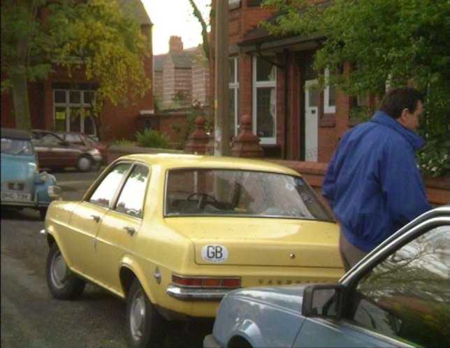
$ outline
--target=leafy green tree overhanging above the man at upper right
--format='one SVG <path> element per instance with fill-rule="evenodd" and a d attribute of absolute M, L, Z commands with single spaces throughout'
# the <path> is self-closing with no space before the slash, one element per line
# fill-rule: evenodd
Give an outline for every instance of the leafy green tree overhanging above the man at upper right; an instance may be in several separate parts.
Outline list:
<path fill-rule="evenodd" d="M 354 96 L 382 97 L 386 82 L 391 87 L 414 85 L 421 89 L 427 94 L 423 136 L 433 139 L 446 134 L 450 116 L 448 0 L 308 3 L 311 1 L 266 0 L 264 5 L 277 6 L 280 16 L 263 25 L 273 34 L 323 38 L 314 56 L 322 85 L 335 85 Z M 351 69 L 342 68 L 344 64 Z M 331 71 L 329 80 L 324 78 L 326 68 Z M 441 158 L 448 145 L 447 140 Z"/>

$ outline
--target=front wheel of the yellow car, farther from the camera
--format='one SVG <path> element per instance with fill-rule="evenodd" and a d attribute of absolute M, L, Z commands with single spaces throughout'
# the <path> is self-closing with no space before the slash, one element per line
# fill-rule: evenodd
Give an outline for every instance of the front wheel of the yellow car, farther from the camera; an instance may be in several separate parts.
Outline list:
<path fill-rule="evenodd" d="M 70 300 L 81 295 L 86 282 L 75 277 L 68 269 L 57 243 L 53 243 L 45 265 L 48 289 L 54 298 Z"/>

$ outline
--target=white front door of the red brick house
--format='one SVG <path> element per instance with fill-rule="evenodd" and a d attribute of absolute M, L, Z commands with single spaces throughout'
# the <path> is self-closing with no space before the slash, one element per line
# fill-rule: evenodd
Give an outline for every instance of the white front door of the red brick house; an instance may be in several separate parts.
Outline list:
<path fill-rule="evenodd" d="M 305 81 L 305 161 L 317 162 L 319 89 L 317 80 Z"/>

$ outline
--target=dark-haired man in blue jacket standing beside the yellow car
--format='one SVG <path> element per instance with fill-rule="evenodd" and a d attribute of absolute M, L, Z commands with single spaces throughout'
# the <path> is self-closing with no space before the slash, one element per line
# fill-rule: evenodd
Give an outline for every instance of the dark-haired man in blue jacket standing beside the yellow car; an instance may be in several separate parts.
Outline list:
<path fill-rule="evenodd" d="M 322 194 L 340 224 L 340 252 L 349 270 L 380 242 L 431 207 L 414 152 L 421 92 L 392 89 L 370 122 L 344 134 L 326 173 Z"/>

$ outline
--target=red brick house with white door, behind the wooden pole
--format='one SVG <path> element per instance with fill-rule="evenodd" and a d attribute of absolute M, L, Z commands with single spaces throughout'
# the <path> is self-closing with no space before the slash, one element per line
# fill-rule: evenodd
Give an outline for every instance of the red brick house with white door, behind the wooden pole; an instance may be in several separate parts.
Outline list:
<path fill-rule="evenodd" d="M 352 125 L 349 108 L 356 99 L 330 87 L 314 89 L 313 55 L 323 37 L 269 34 L 258 24 L 274 18 L 276 9 L 261 8 L 261 2 L 228 1 L 229 87 L 235 106 L 231 136 L 238 131 L 239 117 L 252 115 L 252 131 L 266 157 L 328 162 Z M 213 19 L 210 37 L 214 47 Z M 214 59 L 211 64 L 214 71 Z"/>

